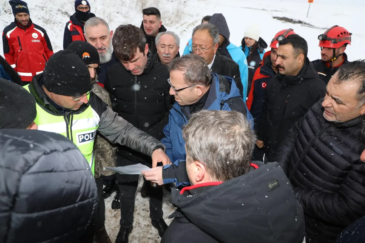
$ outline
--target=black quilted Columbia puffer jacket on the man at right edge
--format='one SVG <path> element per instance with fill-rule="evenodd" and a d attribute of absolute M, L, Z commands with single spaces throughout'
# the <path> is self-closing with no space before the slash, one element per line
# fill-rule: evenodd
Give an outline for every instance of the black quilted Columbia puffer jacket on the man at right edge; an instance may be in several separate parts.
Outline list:
<path fill-rule="evenodd" d="M 360 160 L 365 144 L 362 117 L 329 122 L 322 101 L 288 131 L 276 157 L 303 205 L 308 238 L 332 243 L 365 215 L 365 166 Z"/>

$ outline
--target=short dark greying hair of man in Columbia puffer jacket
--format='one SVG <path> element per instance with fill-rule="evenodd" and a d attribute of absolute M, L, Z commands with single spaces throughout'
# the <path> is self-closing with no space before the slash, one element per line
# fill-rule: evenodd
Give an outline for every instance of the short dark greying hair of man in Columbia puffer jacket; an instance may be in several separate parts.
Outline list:
<path fill-rule="evenodd" d="M 335 84 L 346 81 L 358 81 L 360 87 L 356 92 L 358 107 L 365 104 L 365 59 L 347 62 L 337 69 Z"/>

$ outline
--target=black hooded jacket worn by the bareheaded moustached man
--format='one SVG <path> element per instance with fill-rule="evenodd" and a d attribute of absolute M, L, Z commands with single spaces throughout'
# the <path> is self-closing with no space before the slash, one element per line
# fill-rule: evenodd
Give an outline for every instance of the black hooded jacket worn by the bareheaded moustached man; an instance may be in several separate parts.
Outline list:
<path fill-rule="evenodd" d="M 277 73 L 265 89 L 264 106 L 258 126 L 257 138 L 269 149 L 268 159 L 273 162 L 287 131 L 319 99 L 324 97 L 326 85 L 318 77 L 313 64 L 306 59 L 297 76 Z"/>

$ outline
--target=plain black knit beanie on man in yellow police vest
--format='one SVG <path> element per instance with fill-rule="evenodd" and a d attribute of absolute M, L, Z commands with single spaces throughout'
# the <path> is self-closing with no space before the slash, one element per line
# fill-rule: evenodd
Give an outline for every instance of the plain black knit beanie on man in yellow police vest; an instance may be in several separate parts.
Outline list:
<path fill-rule="evenodd" d="M 43 85 L 56 95 L 80 96 L 92 89 L 85 63 L 72 51 L 51 55 L 43 70 Z"/>

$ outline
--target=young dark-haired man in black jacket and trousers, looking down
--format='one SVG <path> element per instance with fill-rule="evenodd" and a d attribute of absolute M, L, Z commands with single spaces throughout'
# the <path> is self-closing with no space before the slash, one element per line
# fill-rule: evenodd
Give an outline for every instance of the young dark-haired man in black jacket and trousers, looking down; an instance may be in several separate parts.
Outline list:
<path fill-rule="evenodd" d="M 112 109 L 133 126 L 162 139 L 162 129 L 168 123 L 169 110 L 172 108 L 167 67 L 154 61 L 142 30 L 131 24 L 116 28 L 113 47 L 120 62 L 108 68 L 105 78 L 105 89 L 110 93 Z M 125 146 L 119 147 L 117 155 L 118 166 L 143 163 L 151 167 L 150 158 Z M 138 177 L 116 174 L 120 190 L 117 202 L 120 200 L 121 210 L 117 243 L 128 242 L 132 230 Z M 167 228 L 162 219 L 162 188 L 154 188 L 150 182 L 146 185 L 150 196 L 152 225 L 162 236 Z"/>

